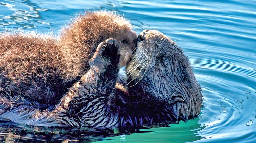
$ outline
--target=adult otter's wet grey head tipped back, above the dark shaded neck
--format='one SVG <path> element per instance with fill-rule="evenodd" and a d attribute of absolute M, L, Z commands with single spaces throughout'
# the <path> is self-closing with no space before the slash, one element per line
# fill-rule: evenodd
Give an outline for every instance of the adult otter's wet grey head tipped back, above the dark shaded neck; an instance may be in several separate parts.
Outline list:
<path fill-rule="evenodd" d="M 193 104 L 193 109 L 200 112 L 201 88 L 190 62 L 182 49 L 163 33 L 144 30 L 138 35 L 126 73 L 129 91 L 142 92 L 138 95 L 154 102 L 196 102 L 199 108 L 195 109 Z"/>

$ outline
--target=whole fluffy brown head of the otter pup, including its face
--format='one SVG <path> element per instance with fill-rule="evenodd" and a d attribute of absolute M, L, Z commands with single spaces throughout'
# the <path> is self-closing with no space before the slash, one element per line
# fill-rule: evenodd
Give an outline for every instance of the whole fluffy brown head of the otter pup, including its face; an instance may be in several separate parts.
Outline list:
<path fill-rule="evenodd" d="M 63 75 L 81 76 L 88 70 L 88 60 L 93 56 L 98 44 L 114 38 L 121 46 L 119 67 L 130 60 L 137 44 L 137 34 L 131 23 L 117 13 L 110 11 L 85 12 L 63 27 L 60 34 L 60 51 L 63 53 Z"/>

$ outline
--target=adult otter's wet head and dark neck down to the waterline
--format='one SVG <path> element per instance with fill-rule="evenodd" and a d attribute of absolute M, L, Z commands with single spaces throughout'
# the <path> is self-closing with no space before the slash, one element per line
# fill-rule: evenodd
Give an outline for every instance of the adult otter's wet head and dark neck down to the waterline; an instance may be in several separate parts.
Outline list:
<path fill-rule="evenodd" d="M 182 49 L 163 33 L 144 30 L 131 62 L 126 66 L 128 100 L 154 106 L 160 121 L 187 121 L 200 113 L 201 87 Z M 146 106 L 147 107 L 147 106 Z M 138 108 L 138 107 L 137 107 Z M 156 117 L 153 117 L 156 118 Z M 159 117 L 158 117 L 159 118 Z"/>

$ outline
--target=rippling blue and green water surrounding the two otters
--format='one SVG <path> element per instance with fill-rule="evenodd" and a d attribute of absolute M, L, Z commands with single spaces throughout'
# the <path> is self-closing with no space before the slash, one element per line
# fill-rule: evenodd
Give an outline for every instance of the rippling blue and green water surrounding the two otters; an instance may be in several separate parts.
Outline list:
<path fill-rule="evenodd" d="M 158 29 L 184 49 L 203 90 L 200 117 L 112 137 L 2 125 L 0 142 L 256 142 L 256 0 L 0 0 L 0 31 L 57 35 L 77 13 L 100 9 L 123 14 L 137 33 Z"/>

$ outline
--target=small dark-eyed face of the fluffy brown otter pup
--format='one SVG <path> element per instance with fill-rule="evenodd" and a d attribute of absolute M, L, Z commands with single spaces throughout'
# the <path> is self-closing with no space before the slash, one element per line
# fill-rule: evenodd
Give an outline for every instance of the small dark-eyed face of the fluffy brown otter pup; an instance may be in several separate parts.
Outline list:
<path fill-rule="evenodd" d="M 137 34 L 131 30 L 123 30 L 114 37 L 121 46 L 121 56 L 118 67 L 121 68 L 126 66 L 131 60 L 133 51 L 137 45 Z"/>

